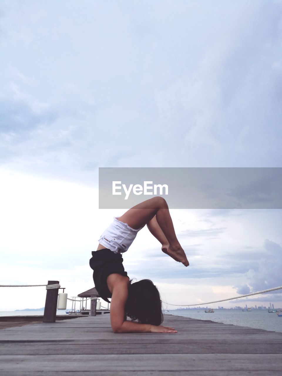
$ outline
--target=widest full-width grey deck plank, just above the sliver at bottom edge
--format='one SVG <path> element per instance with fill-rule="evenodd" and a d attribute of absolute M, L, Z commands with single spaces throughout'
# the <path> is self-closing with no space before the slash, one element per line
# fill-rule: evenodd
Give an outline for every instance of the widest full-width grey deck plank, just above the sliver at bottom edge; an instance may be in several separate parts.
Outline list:
<path fill-rule="evenodd" d="M 5 368 L 4 368 L 5 367 Z M 5 355 L 6 371 L 262 371 L 282 369 L 280 354 Z"/>

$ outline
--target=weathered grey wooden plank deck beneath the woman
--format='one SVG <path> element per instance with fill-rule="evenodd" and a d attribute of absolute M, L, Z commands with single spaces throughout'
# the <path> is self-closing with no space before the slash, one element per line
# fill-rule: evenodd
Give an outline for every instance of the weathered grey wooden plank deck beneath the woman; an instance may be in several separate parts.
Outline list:
<path fill-rule="evenodd" d="M 281 375 L 282 333 L 165 315 L 177 334 L 114 334 L 109 315 L 0 331 L 1 376 Z"/>

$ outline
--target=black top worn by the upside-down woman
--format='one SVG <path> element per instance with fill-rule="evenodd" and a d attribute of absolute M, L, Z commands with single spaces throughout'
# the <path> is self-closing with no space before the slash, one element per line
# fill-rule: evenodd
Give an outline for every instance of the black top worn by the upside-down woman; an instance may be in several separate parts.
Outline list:
<path fill-rule="evenodd" d="M 114 253 L 108 248 L 93 251 L 89 265 L 91 269 L 94 270 L 93 280 L 96 290 L 103 300 L 109 302 L 108 298 L 111 298 L 112 294 L 107 285 L 108 276 L 113 273 L 118 273 L 127 277 L 127 272 L 124 271 L 121 254 Z"/>

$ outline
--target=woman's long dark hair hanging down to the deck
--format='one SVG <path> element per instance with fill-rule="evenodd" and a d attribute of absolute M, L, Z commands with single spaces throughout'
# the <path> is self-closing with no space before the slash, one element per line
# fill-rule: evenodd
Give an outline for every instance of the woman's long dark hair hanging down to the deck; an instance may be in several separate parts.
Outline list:
<path fill-rule="evenodd" d="M 158 289 L 150 279 L 128 285 L 126 315 L 141 324 L 160 325 L 164 320 L 162 301 Z"/>

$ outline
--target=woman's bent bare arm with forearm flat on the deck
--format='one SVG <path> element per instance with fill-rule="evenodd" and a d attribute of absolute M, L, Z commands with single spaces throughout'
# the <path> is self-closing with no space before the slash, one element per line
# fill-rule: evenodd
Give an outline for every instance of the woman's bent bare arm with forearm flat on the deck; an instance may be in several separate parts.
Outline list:
<path fill-rule="evenodd" d="M 109 282 L 112 290 L 110 317 L 114 333 L 176 333 L 174 328 L 166 326 L 126 321 L 124 307 L 128 297 L 129 280 L 120 274 L 111 274 L 108 279 L 107 282 Z"/>

